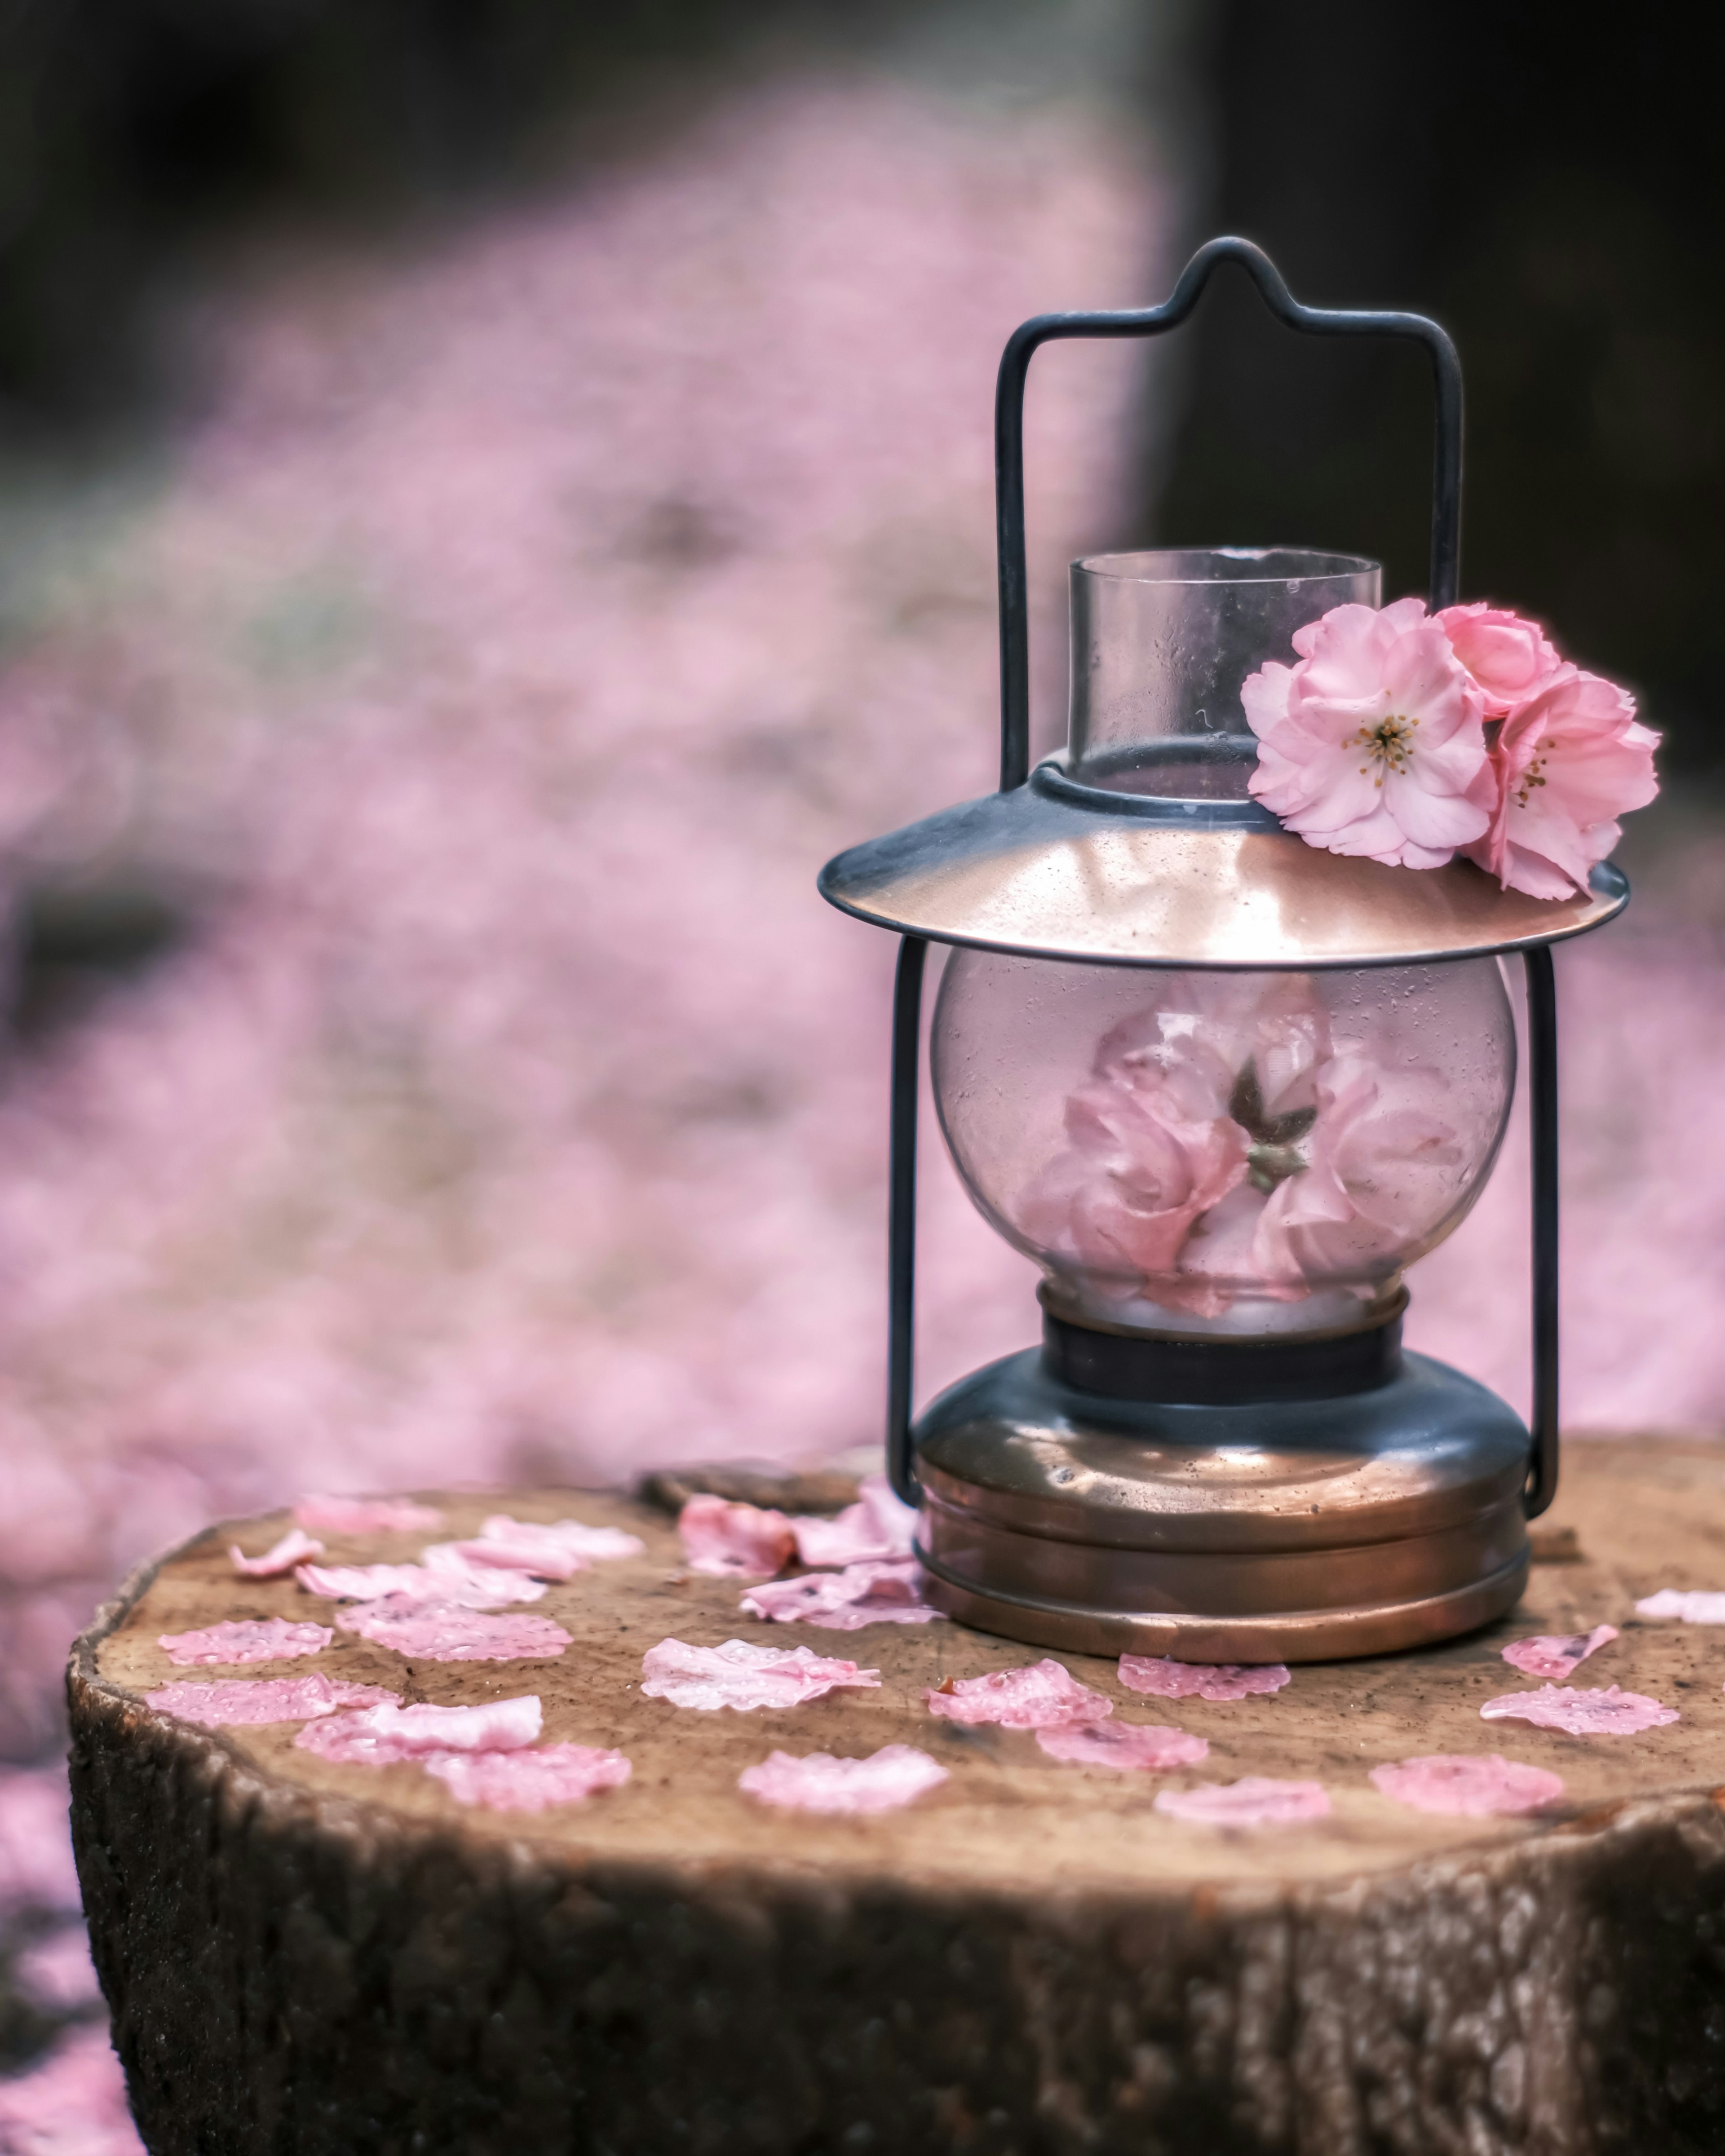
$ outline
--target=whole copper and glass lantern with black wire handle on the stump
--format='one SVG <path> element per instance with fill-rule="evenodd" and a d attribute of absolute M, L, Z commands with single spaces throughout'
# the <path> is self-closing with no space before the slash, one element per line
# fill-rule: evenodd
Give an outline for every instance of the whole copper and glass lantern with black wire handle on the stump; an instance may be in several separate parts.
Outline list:
<path fill-rule="evenodd" d="M 1432 608 L 1455 599 L 1462 386 L 1419 315 L 1294 302 L 1214 239 L 1158 308 L 1044 315 L 996 401 L 1000 791 L 852 847 L 822 893 L 899 934 L 888 1462 L 949 1615 L 1078 1651 L 1380 1654 L 1509 1608 L 1557 1483 L 1557 1039 L 1550 946 L 1617 914 L 1481 869 L 1320 852 L 1251 798 L 1240 683 L 1367 561 L 1292 548 L 1072 569 L 1072 724 L 1029 770 L 1022 405 L 1033 351 L 1154 336 L 1236 261 L 1285 323 L 1419 341 L 1436 377 Z M 1044 1343 L 912 1425 L 923 966 L 940 1125 L 988 1220 L 1041 1268 Z M 1490 1175 L 1527 985 L 1533 1427 L 1404 1352 L 1404 1270 Z"/>

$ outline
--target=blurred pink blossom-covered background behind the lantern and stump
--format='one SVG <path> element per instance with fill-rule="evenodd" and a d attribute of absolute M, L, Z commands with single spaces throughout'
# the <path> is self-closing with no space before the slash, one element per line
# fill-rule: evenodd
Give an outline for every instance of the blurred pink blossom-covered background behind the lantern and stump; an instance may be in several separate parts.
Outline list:
<path fill-rule="evenodd" d="M 1000 343 L 1158 295 L 1186 222 L 1100 108 L 852 69 L 209 306 L 207 407 L 0 675 L 6 893 L 192 921 L 0 1091 L 0 1755 L 54 1753 L 71 1632 L 211 1518 L 878 1445 L 893 949 L 815 871 L 992 785 Z M 1037 360 L 1046 740 L 1143 367 Z M 1725 893 L 1660 815 L 1652 897 L 1559 959 L 1574 1427 L 1725 1408 Z M 927 1128 L 925 1395 L 1035 1332 Z M 1516 1401 L 1524 1188 L 1516 1128 L 1410 1324 Z M 73 2029 L 0 2147 L 37 2104 L 119 2150 L 60 1820 L 0 1789 Z"/>

